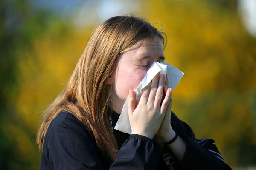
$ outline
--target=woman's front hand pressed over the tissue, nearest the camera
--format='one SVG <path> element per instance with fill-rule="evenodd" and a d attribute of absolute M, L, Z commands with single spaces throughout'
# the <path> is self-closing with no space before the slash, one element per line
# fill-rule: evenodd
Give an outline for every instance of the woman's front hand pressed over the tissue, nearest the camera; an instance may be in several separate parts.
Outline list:
<path fill-rule="evenodd" d="M 133 90 L 129 91 L 128 113 L 132 134 L 153 139 L 157 133 L 171 99 L 171 95 L 166 95 L 161 103 L 164 84 L 165 76 L 159 76 L 158 73 L 151 83 L 143 88 L 137 107 L 136 94 Z"/>

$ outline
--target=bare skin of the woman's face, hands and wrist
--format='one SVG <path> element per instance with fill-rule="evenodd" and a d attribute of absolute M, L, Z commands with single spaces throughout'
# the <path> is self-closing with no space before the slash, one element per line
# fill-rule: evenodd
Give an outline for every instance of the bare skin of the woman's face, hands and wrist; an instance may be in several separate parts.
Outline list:
<path fill-rule="evenodd" d="M 145 88 L 140 101 L 136 101 L 133 91 L 145 77 L 153 62 L 164 61 L 163 43 L 160 38 L 141 40 L 131 50 L 121 54 L 116 68 L 106 83 L 112 84 L 111 108 L 121 113 L 122 106 L 129 97 L 128 113 L 132 134 L 153 138 L 160 136 L 163 142 L 170 141 L 175 132 L 170 124 L 172 89 L 168 88 L 164 75 L 157 74 Z M 178 137 L 169 144 L 175 156 L 181 160 L 186 151 L 186 142 Z"/>

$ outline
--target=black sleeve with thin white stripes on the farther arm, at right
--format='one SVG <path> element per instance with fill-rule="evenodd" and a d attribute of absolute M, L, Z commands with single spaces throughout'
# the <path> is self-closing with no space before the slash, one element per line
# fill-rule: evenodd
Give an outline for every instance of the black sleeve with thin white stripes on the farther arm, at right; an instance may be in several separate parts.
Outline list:
<path fill-rule="evenodd" d="M 163 148 L 163 157 L 170 169 L 232 170 L 225 163 L 214 140 L 196 139 L 189 125 L 179 120 L 174 113 L 171 115 L 171 125 L 173 130 L 186 142 L 186 151 L 183 159 L 179 161 L 169 147 Z"/>

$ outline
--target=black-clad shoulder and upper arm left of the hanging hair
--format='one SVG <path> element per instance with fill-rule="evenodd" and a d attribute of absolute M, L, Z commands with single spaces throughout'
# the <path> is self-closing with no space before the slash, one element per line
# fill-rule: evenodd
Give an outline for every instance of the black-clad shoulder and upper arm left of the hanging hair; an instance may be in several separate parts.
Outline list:
<path fill-rule="evenodd" d="M 41 169 L 101 169 L 100 156 L 93 134 L 76 116 L 62 111 L 44 137 Z"/>

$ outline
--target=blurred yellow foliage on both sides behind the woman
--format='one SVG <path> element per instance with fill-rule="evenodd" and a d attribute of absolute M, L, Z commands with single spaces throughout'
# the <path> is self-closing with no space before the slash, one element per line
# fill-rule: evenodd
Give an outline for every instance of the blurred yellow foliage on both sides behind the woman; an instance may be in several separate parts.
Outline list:
<path fill-rule="evenodd" d="M 163 25 L 168 36 L 166 62 L 185 73 L 173 93 L 172 110 L 199 139 L 215 139 L 228 164 L 248 163 L 253 151 L 247 151 L 242 161 L 239 155 L 255 146 L 256 40 L 235 10 L 210 2 L 141 1 L 141 13 L 157 28 L 162 28 L 158 23 Z M 20 54 L 18 94 L 13 100 L 17 114 L 34 132 L 42 111 L 66 85 L 92 31 L 91 26 L 81 32 L 66 27 L 64 33 L 56 29 L 54 34 L 42 34 Z M 17 149 L 22 155 L 35 152 L 23 130 L 8 128 L 19 136 Z"/>

